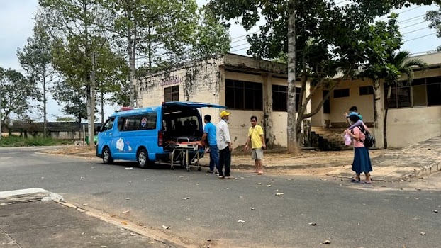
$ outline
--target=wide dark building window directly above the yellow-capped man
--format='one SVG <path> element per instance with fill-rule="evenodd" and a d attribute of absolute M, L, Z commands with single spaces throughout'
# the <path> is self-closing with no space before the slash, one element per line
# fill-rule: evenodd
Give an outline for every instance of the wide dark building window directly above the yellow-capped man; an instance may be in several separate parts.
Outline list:
<path fill-rule="evenodd" d="M 262 84 L 225 79 L 225 103 L 228 108 L 262 111 Z"/>

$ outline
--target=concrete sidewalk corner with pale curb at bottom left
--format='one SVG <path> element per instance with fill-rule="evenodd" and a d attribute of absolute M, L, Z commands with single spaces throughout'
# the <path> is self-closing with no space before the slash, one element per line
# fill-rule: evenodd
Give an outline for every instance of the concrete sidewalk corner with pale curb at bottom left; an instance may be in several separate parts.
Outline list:
<path fill-rule="evenodd" d="M 0 247 L 184 247 L 51 198 L 41 188 L 0 192 Z"/>

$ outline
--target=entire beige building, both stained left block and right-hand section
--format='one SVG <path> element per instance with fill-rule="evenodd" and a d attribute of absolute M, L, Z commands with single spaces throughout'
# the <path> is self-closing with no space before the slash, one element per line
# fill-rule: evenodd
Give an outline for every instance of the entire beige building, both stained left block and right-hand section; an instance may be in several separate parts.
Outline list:
<path fill-rule="evenodd" d="M 441 135 L 441 52 L 418 58 L 427 62 L 430 69 L 415 70 L 412 85 L 406 84 L 403 76 L 403 81 L 393 86 L 387 118 L 388 147 L 404 147 Z M 230 133 L 236 147 L 245 144 L 251 115 L 257 116 L 272 144 L 286 147 L 286 85 L 285 64 L 227 54 L 216 60 L 191 62 L 148 74 L 138 84 L 138 106 L 155 106 L 163 101 L 224 105 L 232 113 Z M 386 94 L 383 86 L 381 91 Z M 317 106 L 323 94 L 313 96 L 306 113 Z M 384 104 L 383 99 L 381 111 L 384 111 Z M 343 81 L 311 118 L 311 125 L 330 130 L 340 128 L 335 130 L 341 132 L 341 128 L 347 127 L 343 113 L 350 106 L 357 106 L 364 122 L 372 127 L 372 81 Z M 220 120 L 218 109 L 203 108 L 201 111 L 202 115 L 210 114 L 213 123 Z"/>

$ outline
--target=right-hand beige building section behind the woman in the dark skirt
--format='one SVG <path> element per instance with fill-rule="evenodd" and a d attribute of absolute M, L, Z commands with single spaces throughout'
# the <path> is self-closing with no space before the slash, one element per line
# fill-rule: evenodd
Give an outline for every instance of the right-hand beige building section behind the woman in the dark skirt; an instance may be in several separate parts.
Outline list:
<path fill-rule="evenodd" d="M 393 86 L 386 123 L 388 147 L 405 147 L 441 135 L 441 52 L 413 58 L 425 61 L 429 69 L 415 69 L 411 85 L 403 75 L 399 84 Z M 381 86 L 383 113 L 387 90 L 387 86 L 386 89 Z M 321 96 L 313 98 L 312 106 L 319 100 Z M 374 123 L 372 81 L 342 82 L 331 94 L 328 104 L 311 118 L 313 126 L 325 127 L 325 121 L 330 123 L 330 128 L 347 126 L 343 113 L 351 106 L 357 106 L 365 123 L 371 127 Z M 381 140 L 377 138 L 378 142 Z"/>

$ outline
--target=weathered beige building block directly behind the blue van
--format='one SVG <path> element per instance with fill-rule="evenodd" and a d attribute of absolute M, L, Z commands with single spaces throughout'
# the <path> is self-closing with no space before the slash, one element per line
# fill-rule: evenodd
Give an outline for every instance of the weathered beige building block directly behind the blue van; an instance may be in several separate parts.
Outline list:
<path fill-rule="evenodd" d="M 155 106 L 163 101 L 227 106 L 232 113 L 230 135 L 235 147 L 245 145 L 252 115 L 257 116 L 272 144 L 286 147 L 287 80 L 286 64 L 227 54 L 148 74 L 138 85 L 138 106 Z M 211 115 L 212 123 L 220 120 L 219 109 L 201 111 L 202 115 Z"/>

